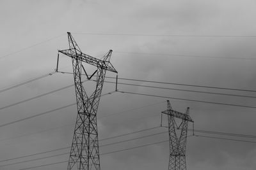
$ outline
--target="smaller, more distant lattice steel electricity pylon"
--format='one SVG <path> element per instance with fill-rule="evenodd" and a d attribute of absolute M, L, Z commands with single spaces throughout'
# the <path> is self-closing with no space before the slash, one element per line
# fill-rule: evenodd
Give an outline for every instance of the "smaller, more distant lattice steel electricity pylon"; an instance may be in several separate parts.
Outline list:
<path fill-rule="evenodd" d="M 170 159 L 168 170 L 186 170 L 186 141 L 188 133 L 188 122 L 193 122 L 189 117 L 189 108 L 186 113 L 181 113 L 172 109 L 170 101 L 167 101 L 167 110 L 162 113 L 168 115 Z M 177 125 L 175 118 L 181 120 Z M 180 135 L 177 131 L 180 130 Z"/>

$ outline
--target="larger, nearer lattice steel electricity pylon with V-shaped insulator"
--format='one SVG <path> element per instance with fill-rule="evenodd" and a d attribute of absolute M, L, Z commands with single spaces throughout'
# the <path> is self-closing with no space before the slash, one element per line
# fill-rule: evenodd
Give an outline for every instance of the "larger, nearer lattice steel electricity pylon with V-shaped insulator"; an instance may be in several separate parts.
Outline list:
<path fill-rule="evenodd" d="M 59 50 L 58 52 L 72 59 L 78 112 L 67 169 L 100 170 L 96 115 L 106 71 L 117 73 L 116 69 L 109 62 L 112 50 L 109 50 L 102 60 L 96 59 L 81 52 L 70 32 L 67 33 L 69 48 L 67 50 Z M 82 64 L 83 62 L 97 67 L 92 75 L 88 76 Z M 58 71 L 58 62 L 56 71 Z M 91 96 L 88 96 L 84 90 L 82 71 L 84 71 L 89 80 L 94 75 L 97 76 L 96 89 Z"/>

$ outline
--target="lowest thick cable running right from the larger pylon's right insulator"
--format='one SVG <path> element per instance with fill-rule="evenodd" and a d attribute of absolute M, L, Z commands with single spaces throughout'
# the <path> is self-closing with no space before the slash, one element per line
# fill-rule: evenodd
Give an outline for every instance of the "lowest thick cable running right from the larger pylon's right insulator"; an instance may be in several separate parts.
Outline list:
<path fill-rule="evenodd" d="M 199 101 L 199 100 L 193 100 L 193 99 L 182 99 L 182 98 L 176 98 L 176 97 L 157 96 L 157 95 L 152 95 L 152 94 L 141 94 L 141 93 L 135 93 L 135 92 L 124 92 L 124 91 L 120 91 L 120 90 L 118 90 L 118 92 L 126 93 L 126 94 L 138 94 L 138 95 L 141 95 L 141 96 L 161 97 L 161 98 L 165 98 L 165 99 L 175 99 L 175 100 L 181 100 L 181 101 L 193 101 L 193 102 L 198 102 L 198 103 L 220 104 L 220 105 L 225 105 L 225 106 L 237 106 L 237 107 L 241 107 L 241 108 L 253 108 L 253 109 L 256 109 L 255 106 L 245 106 L 245 105 L 239 105 L 239 104 L 217 103 L 217 102 L 211 102 L 211 101 Z"/>

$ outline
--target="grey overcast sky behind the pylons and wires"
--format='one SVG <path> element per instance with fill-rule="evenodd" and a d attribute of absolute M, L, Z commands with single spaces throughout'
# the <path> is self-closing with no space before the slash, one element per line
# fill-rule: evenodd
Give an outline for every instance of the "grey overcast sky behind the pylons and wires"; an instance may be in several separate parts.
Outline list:
<path fill-rule="evenodd" d="M 1 0 L 0 89 L 54 71 L 58 49 L 67 48 L 67 32 L 71 32 L 84 53 L 100 58 L 112 49 L 111 62 L 121 78 L 256 90 L 255 8 L 256 1 L 253 0 Z M 61 71 L 71 71 L 70 59 L 61 55 L 60 67 Z M 108 73 L 108 76 L 115 76 L 115 74 Z M 124 80 L 120 82 L 256 96 L 255 92 Z M 0 107 L 3 108 L 72 83 L 74 82 L 70 74 L 53 74 L 1 92 Z M 85 87 L 88 91 L 93 90 L 88 83 Z M 114 89 L 115 85 L 105 83 L 102 94 Z M 256 104 L 253 97 L 198 94 L 127 85 L 119 85 L 118 89 L 215 103 L 253 107 Z M 70 146 L 77 115 L 76 106 L 15 124 L 2 127 L 1 125 L 75 102 L 74 87 L 70 87 L 26 103 L 1 109 L 0 161 Z M 185 111 L 187 107 L 191 108 L 190 115 L 195 121 L 195 129 L 256 135 L 255 108 L 175 99 L 171 99 L 171 103 L 174 110 Z M 134 108 L 140 109 L 132 110 Z M 157 127 L 163 110 L 166 110 L 164 98 L 119 92 L 104 96 L 100 100 L 98 111 L 99 139 Z M 166 124 L 166 118 L 164 118 L 164 124 Z M 189 129 L 191 128 L 190 124 Z M 167 131 L 164 127 L 156 128 L 122 138 L 100 141 L 100 145 L 164 131 Z M 200 135 L 256 142 L 253 138 Z M 168 133 L 159 134 L 116 145 L 102 146 L 100 153 L 167 139 Z M 188 137 L 187 169 L 256 169 L 255 146 L 256 143 Z M 0 162 L 0 169 L 16 170 L 62 162 L 68 160 L 68 155 L 4 166 L 66 152 L 69 150 Z M 168 142 L 165 142 L 101 155 L 100 164 L 104 170 L 168 169 L 168 153 Z M 66 168 L 67 163 L 60 163 L 34 169 Z"/>

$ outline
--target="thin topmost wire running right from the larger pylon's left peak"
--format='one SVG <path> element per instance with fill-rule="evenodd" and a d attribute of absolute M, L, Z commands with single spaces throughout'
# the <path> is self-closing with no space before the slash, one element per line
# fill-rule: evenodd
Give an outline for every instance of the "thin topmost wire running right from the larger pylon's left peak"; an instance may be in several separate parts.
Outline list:
<path fill-rule="evenodd" d="M 99 33 L 99 32 L 73 32 L 73 34 L 87 34 L 93 36 L 165 36 L 190 38 L 256 38 L 256 36 L 227 36 L 227 35 L 182 35 L 182 34 L 127 34 L 127 33 Z"/>

